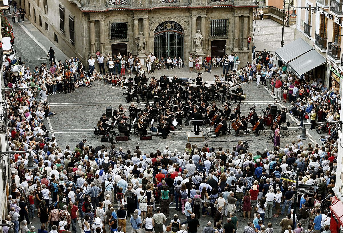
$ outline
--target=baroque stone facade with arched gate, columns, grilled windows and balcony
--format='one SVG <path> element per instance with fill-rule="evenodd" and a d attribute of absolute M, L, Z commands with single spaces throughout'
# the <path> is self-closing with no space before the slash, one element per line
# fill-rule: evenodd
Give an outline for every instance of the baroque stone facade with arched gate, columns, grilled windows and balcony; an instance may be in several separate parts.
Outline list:
<path fill-rule="evenodd" d="M 34 0 L 21 1 L 32 2 L 31 8 L 35 7 Z M 241 62 L 251 60 L 247 38 L 252 35 L 252 11 L 256 6 L 253 0 L 57 0 L 54 8 L 61 5 L 66 26 L 68 14 L 75 18 L 73 45 L 68 30 L 60 33 L 57 10 L 50 8 L 49 17 L 43 14 L 43 21 L 51 24 L 59 36 L 55 44 L 67 55 L 77 54 L 82 61 L 97 50 L 104 56 L 118 52 L 137 55 L 134 38 L 140 32 L 145 38 L 146 54 L 152 52 L 159 58 L 180 56 L 187 61 L 190 53 L 199 53 L 194 44 L 197 30 L 203 37 L 203 52 L 199 55 L 234 52 Z M 29 20 L 34 21 L 31 17 Z M 51 30 L 48 33 L 38 25 L 37 28 L 48 37 L 52 35 Z"/>

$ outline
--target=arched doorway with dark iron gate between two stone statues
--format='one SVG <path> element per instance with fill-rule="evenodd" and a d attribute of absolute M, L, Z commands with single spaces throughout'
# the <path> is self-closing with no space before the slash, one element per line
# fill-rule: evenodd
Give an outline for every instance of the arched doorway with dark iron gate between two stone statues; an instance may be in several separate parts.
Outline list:
<path fill-rule="evenodd" d="M 155 56 L 173 59 L 184 59 L 184 29 L 174 21 L 165 21 L 159 24 L 154 32 Z"/>

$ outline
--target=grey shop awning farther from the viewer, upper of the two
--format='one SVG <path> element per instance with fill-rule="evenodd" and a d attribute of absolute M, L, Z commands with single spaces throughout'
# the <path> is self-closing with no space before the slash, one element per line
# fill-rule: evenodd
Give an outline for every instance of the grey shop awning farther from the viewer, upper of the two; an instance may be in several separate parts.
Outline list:
<path fill-rule="evenodd" d="M 299 38 L 276 50 L 275 54 L 283 63 L 287 64 L 312 49 L 313 48 L 307 44 L 306 41 Z"/>

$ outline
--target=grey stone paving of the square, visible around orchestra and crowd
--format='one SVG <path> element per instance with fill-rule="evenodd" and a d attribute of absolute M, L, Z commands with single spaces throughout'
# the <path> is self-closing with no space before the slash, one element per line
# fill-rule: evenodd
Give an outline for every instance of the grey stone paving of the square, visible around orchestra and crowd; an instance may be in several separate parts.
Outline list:
<path fill-rule="evenodd" d="M 269 22 L 268 20 L 263 21 Z M 260 22 L 259 22 L 260 23 Z M 262 22 L 261 22 L 262 23 Z M 268 26 L 268 25 L 267 25 Z M 279 25 L 280 26 L 280 25 Z M 45 50 L 49 49 L 50 44 L 52 43 L 47 41 L 47 39 L 39 33 L 39 31 L 33 30 L 31 24 L 24 23 L 22 26 L 14 25 L 14 32 L 16 36 L 15 40 L 15 49 L 17 50 L 17 56 L 22 57 L 22 60 L 26 61 L 26 65 L 29 65 L 31 69 L 34 69 L 34 66 L 39 66 L 41 60 L 39 58 L 46 57 Z M 30 31 L 31 36 L 28 36 L 25 30 Z M 266 32 L 266 31 L 264 31 Z M 33 38 L 32 38 L 33 37 Z M 25 38 L 25 39 L 22 39 Z M 271 37 L 270 40 L 273 38 Z M 39 42 L 40 45 L 37 45 L 36 42 Z M 264 48 L 264 44 L 260 44 L 260 48 Z M 65 55 L 61 54 L 61 52 L 54 47 L 55 52 L 57 53 L 57 58 L 64 60 L 66 58 Z M 47 62 L 48 60 L 45 60 Z M 212 80 L 214 74 L 221 74 L 221 68 L 213 69 L 212 73 L 204 73 L 202 77 L 204 81 Z M 182 70 L 162 70 L 153 73 L 152 75 L 155 77 L 159 77 L 161 75 L 177 75 L 178 77 L 192 77 L 195 78 L 197 74 L 189 73 L 188 68 L 184 68 Z M 152 76 L 151 75 L 151 76 Z M 268 104 L 274 103 L 273 96 L 270 95 L 270 91 L 265 89 L 264 87 L 257 88 L 256 82 L 251 84 L 244 84 L 242 85 L 244 93 L 247 94 L 246 100 L 242 102 L 242 115 L 247 115 L 249 112 L 249 107 L 256 106 L 256 111 L 258 114 L 262 114 L 262 110 L 264 110 Z M 91 88 L 78 88 L 76 93 L 72 94 L 56 94 L 53 96 L 48 97 L 49 104 L 51 106 L 52 111 L 56 111 L 57 115 L 51 116 L 49 119 L 44 120 L 45 125 L 50 129 L 52 135 L 56 136 L 57 143 L 60 147 L 65 148 L 66 145 L 70 145 L 71 148 L 75 147 L 75 144 L 78 144 L 83 138 L 87 138 L 87 144 L 96 147 L 98 145 L 106 143 L 101 143 L 100 139 L 97 140 L 95 137 L 94 139 L 94 127 L 96 126 L 97 121 L 105 113 L 105 108 L 110 106 L 113 109 L 117 109 L 119 104 L 123 104 L 127 107 L 125 102 L 125 96 L 123 94 L 123 89 L 118 87 L 113 87 L 109 85 L 104 85 L 104 83 L 94 82 Z M 141 99 L 140 99 L 141 100 Z M 140 104 L 140 107 L 143 107 L 144 103 Z M 217 102 L 218 106 L 222 106 L 220 102 Z M 277 104 L 278 109 L 281 109 L 282 104 Z M 232 108 L 235 108 L 236 105 L 233 104 Z M 284 107 L 287 107 L 284 106 Z M 294 118 L 287 114 L 287 121 L 291 123 L 291 127 L 289 128 L 289 135 L 285 135 L 281 138 L 281 144 L 289 144 L 292 140 L 295 140 L 297 135 L 301 133 L 300 130 L 297 128 L 297 124 L 299 122 L 295 121 Z M 251 126 L 250 126 L 251 127 Z M 139 138 L 136 138 L 134 135 L 131 136 L 131 140 L 128 142 L 118 142 L 116 147 L 122 147 L 124 151 L 127 149 L 133 149 L 135 145 L 139 145 L 140 149 L 143 152 L 153 152 L 157 149 L 164 149 L 166 145 L 169 146 L 169 149 L 180 150 L 184 151 L 185 145 L 187 143 L 186 138 L 186 131 L 189 130 L 188 126 L 182 125 L 181 130 L 175 130 L 176 135 L 171 135 L 167 139 L 161 139 L 159 136 L 154 136 L 153 140 L 149 141 L 140 141 Z M 192 130 L 192 127 L 190 128 Z M 206 134 L 208 132 L 208 128 L 204 128 L 203 132 Z M 270 130 L 265 131 L 267 135 L 261 132 L 260 137 L 255 137 L 255 134 L 247 134 L 242 135 L 239 138 L 234 137 L 233 134 L 220 136 L 218 138 L 209 137 L 205 140 L 205 142 L 196 142 L 199 147 L 202 147 L 204 143 L 208 143 L 210 147 L 218 148 L 222 146 L 223 148 L 229 148 L 232 150 L 234 146 L 237 145 L 238 140 L 247 140 L 251 146 L 249 147 L 249 151 L 255 153 L 257 150 L 263 151 L 265 148 L 272 149 L 274 144 L 267 142 L 268 135 Z M 213 130 L 210 128 L 210 136 L 213 135 Z M 305 140 L 304 144 L 310 142 L 318 141 L 318 134 L 311 131 L 310 139 Z M 116 206 L 116 205 L 115 205 Z M 185 220 L 185 217 L 181 215 L 180 211 L 174 210 L 175 206 L 170 207 L 169 216 L 173 216 L 173 214 L 179 214 L 179 218 L 181 221 Z M 241 217 L 239 219 L 239 228 L 238 232 L 243 232 L 243 228 L 246 225 L 247 221 L 243 221 Z M 279 222 L 281 221 L 280 218 L 273 218 L 271 222 L 273 223 L 274 232 L 280 232 L 280 226 L 278 226 Z M 200 227 L 198 232 L 202 232 L 202 229 L 206 226 L 207 221 L 213 220 L 210 217 L 202 217 L 200 219 Z M 204 221 L 203 221 L 204 220 Z M 252 221 L 252 219 L 251 219 Z M 167 220 L 169 224 L 170 218 Z M 225 222 L 225 221 L 224 221 Z M 128 228 L 127 232 L 130 232 L 129 222 L 127 221 Z M 33 220 L 33 225 L 36 226 L 37 229 L 40 228 L 39 218 Z M 78 232 L 81 232 L 80 228 L 78 227 Z"/>

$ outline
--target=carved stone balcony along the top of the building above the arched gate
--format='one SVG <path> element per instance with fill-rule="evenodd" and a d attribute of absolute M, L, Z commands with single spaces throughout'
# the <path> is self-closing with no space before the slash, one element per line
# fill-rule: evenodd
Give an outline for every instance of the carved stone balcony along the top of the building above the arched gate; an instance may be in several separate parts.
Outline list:
<path fill-rule="evenodd" d="M 69 0 L 82 11 L 140 10 L 155 8 L 255 7 L 255 0 Z"/>

